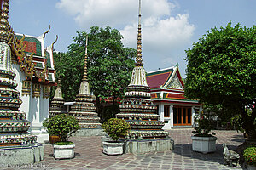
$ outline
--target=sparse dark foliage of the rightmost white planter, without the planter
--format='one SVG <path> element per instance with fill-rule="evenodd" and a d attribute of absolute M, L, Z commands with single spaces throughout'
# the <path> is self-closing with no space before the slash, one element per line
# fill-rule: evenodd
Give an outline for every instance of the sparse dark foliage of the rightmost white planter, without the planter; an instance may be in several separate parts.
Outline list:
<path fill-rule="evenodd" d="M 201 111 L 199 115 L 195 116 L 195 122 L 198 124 L 197 127 L 195 127 L 195 131 L 192 131 L 192 133 L 195 134 L 195 136 L 198 137 L 211 137 L 212 135 L 215 135 L 216 133 L 210 134 L 212 131 L 212 117 L 209 114 L 203 114 Z"/>

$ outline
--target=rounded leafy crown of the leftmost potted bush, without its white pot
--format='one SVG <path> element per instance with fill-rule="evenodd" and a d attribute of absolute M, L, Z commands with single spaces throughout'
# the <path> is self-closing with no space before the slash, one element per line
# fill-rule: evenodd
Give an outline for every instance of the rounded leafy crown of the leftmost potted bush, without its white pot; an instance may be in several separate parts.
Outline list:
<path fill-rule="evenodd" d="M 43 122 L 49 135 L 61 137 L 61 142 L 67 142 L 67 139 L 79 129 L 79 122 L 73 116 L 61 114 L 47 118 Z"/>

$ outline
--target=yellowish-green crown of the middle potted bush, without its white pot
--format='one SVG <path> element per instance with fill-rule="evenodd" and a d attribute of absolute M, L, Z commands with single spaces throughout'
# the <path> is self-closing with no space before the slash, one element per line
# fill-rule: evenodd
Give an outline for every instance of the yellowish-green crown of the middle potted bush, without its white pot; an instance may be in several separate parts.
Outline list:
<path fill-rule="evenodd" d="M 131 129 L 128 122 L 118 118 L 108 119 L 107 122 L 103 123 L 102 128 L 115 142 L 118 141 L 119 138 L 125 137 Z"/>

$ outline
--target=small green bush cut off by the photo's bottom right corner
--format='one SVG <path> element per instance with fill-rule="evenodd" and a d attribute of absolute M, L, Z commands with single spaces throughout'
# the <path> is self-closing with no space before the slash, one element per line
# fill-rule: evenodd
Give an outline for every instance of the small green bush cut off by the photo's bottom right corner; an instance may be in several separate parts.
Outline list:
<path fill-rule="evenodd" d="M 243 151 L 245 161 L 247 161 L 248 170 L 256 170 L 256 147 L 251 146 Z"/>

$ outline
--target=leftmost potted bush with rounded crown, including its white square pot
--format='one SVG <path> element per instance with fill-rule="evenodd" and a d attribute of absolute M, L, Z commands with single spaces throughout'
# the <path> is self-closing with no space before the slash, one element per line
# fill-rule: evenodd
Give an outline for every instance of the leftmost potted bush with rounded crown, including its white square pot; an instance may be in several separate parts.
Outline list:
<path fill-rule="evenodd" d="M 79 129 L 78 120 L 73 116 L 61 114 L 44 120 L 43 125 L 48 133 L 58 135 L 60 138 L 60 141 L 53 145 L 55 159 L 73 158 L 75 144 L 67 139 Z"/>

